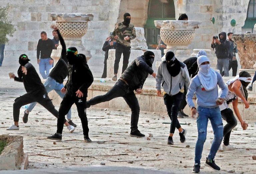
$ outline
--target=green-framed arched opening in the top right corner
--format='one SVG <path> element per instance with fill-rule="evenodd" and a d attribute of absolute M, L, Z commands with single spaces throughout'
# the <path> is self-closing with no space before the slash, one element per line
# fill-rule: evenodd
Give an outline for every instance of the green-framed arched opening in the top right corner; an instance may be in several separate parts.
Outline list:
<path fill-rule="evenodd" d="M 247 17 L 244 21 L 244 26 L 242 27 L 242 33 L 251 32 L 255 33 L 253 30 L 254 24 L 256 23 L 256 0 L 250 0 L 247 10 Z"/>

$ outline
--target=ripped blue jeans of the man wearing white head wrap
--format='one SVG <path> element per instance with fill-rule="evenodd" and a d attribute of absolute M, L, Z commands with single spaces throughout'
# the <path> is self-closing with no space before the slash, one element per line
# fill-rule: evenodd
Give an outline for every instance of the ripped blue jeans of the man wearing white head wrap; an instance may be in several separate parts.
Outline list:
<path fill-rule="evenodd" d="M 217 150 L 221 144 L 223 138 L 223 123 L 220 114 L 220 107 L 205 108 L 198 106 L 197 112 L 199 116 L 197 118 L 198 138 L 195 147 L 195 163 L 200 164 L 203 146 L 206 140 L 208 119 L 210 119 L 211 121 L 214 133 L 214 139 L 212 142 L 210 153 L 208 155 L 209 160 L 214 159 Z"/>

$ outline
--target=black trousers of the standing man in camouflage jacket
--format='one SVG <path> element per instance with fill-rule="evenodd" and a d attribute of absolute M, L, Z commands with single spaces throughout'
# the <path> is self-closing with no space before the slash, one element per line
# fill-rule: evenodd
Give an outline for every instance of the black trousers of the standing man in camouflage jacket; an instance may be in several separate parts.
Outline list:
<path fill-rule="evenodd" d="M 118 72 L 119 62 L 120 62 L 122 53 L 123 53 L 123 68 L 122 68 L 122 73 L 123 73 L 129 64 L 131 47 L 126 47 L 126 46 L 123 46 L 123 45 L 117 43 L 116 58 L 115 58 L 115 63 L 114 63 L 114 74 L 117 74 L 117 72 Z"/>

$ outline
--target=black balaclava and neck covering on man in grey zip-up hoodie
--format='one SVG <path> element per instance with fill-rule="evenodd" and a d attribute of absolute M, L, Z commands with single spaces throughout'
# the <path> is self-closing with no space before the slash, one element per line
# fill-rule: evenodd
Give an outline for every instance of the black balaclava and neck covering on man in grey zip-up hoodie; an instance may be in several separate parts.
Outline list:
<path fill-rule="evenodd" d="M 166 61 L 171 61 L 170 63 L 166 62 L 166 68 L 172 77 L 177 76 L 180 73 L 180 62 L 176 59 L 173 52 L 168 51 L 165 55 Z"/>

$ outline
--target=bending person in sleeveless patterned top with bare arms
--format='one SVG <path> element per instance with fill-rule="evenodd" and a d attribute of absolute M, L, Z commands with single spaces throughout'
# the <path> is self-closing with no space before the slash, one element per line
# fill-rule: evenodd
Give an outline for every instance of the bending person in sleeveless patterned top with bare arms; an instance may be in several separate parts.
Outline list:
<path fill-rule="evenodd" d="M 228 104 L 232 102 L 234 112 L 241 123 L 243 130 L 246 130 L 248 124 L 243 121 L 238 105 L 238 97 L 241 98 L 243 103 L 245 104 L 245 108 L 249 107 L 249 103 L 247 101 L 248 93 L 246 87 L 250 84 L 252 80 L 251 75 L 246 72 L 242 71 L 237 75 L 235 78 L 230 79 L 226 84 L 228 87 L 228 94 L 225 98 L 225 101 L 222 105 L 220 105 L 220 113 L 221 117 L 227 121 L 227 124 L 224 126 L 223 129 L 223 145 L 219 147 L 219 151 L 223 150 L 234 150 L 235 147 L 229 144 L 229 138 L 232 129 L 237 125 L 237 120 L 234 116 L 233 111 L 229 108 Z"/>

